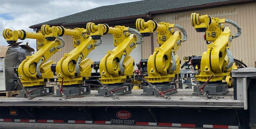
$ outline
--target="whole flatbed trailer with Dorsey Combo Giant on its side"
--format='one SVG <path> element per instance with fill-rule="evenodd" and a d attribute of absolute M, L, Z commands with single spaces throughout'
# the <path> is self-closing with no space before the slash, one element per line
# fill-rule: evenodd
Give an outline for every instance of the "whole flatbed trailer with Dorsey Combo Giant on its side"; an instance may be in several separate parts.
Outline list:
<path fill-rule="evenodd" d="M 224 98 L 192 95 L 178 89 L 171 99 L 131 94 L 111 97 L 90 95 L 63 99 L 43 96 L 0 98 L 0 122 L 84 123 L 187 128 L 253 129 L 256 127 L 256 68 L 232 71 L 234 89 Z"/>

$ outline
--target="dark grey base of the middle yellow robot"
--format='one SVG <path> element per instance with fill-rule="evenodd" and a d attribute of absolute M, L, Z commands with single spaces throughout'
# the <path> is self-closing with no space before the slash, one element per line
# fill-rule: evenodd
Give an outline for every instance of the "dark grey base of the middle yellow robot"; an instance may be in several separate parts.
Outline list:
<path fill-rule="evenodd" d="M 121 88 L 123 88 L 123 89 L 121 89 Z M 116 95 L 130 94 L 131 93 L 131 84 L 109 84 L 108 89 L 109 90 L 120 89 L 120 90 L 116 90 L 114 92 Z M 95 96 L 104 96 L 104 95 L 112 96 L 113 94 L 111 94 L 107 89 L 105 89 L 103 87 L 98 88 L 98 94 Z"/>

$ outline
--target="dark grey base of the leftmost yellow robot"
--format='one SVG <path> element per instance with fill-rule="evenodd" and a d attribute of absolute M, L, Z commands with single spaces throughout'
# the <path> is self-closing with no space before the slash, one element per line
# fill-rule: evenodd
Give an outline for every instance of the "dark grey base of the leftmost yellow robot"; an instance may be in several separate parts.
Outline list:
<path fill-rule="evenodd" d="M 29 92 L 29 91 L 37 89 L 37 88 L 38 88 L 38 86 L 37 87 L 29 87 L 29 88 L 25 88 L 25 89 L 27 89 L 27 92 Z M 31 97 L 39 97 L 39 96 L 53 95 L 53 93 L 54 93 L 53 86 L 50 86 L 50 87 L 41 86 L 40 89 L 37 89 L 37 90 L 29 93 L 28 95 Z M 25 97 L 25 91 L 20 90 L 20 95 L 18 95 L 17 97 Z"/>

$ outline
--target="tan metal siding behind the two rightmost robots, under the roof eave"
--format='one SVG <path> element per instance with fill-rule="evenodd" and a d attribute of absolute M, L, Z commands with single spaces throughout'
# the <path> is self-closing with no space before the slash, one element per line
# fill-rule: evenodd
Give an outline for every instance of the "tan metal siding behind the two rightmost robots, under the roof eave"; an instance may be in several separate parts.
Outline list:
<path fill-rule="evenodd" d="M 243 59 L 244 63 L 248 66 L 254 66 L 254 61 L 256 60 L 256 45 L 254 43 L 256 41 L 256 3 L 154 15 L 153 19 L 157 22 L 175 23 L 186 29 L 188 39 L 182 43 L 177 52 L 181 61 L 183 61 L 184 56 L 201 56 L 207 50 L 206 43 L 203 40 L 204 33 L 197 33 L 191 26 L 190 14 L 192 12 L 197 12 L 201 15 L 209 14 L 212 17 L 227 18 L 237 22 L 242 28 L 242 34 L 232 41 L 231 52 L 234 58 Z M 232 34 L 237 32 L 237 29 L 232 25 L 225 24 L 224 26 L 229 26 Z M 154 47 L 156 47 L 156 34 L 153 34 L 153 37 Z"/>

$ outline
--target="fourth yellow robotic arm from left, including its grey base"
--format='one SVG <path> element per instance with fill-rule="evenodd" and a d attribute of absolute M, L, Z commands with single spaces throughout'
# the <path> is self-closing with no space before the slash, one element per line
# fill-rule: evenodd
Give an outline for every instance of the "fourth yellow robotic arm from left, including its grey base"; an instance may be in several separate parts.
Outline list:
<path fill-rule="evenodd" d="M 155 48 L 153 55 L 150 55 L 147 62 L 148 77 L 145 79 L 152 83 L 159 91 L 167 91 L 175 89 L 175 83 L 172 79 L 176 74 L 180 73 L 180 58 L 176 55 L 181 43 L 187 40 L 187 33 L 183 27 L 177 24 L 170 24 L 168 22 L 160 22 L 144 19 L 137 19 L 136 28 L 140 31 L 142 36 L 150 36 L 153 31 L 157 33 L 157 43 L 159 47 Z M 178 28 L 183 33 L 183 38 L 180 31 L 174 31 Z M 144 86 L 141 95 L 159 95 L 158 92 L 153 91 L 151 86 Z M 166 92 L 165 95 L 176 93 L 177 90 Z"/>

